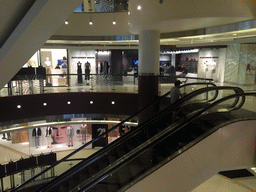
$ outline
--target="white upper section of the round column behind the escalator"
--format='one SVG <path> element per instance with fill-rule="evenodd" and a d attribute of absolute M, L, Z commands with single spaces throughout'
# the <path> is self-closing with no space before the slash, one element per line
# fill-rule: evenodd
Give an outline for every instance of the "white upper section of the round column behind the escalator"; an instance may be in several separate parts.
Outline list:
<path fill-rule="evenodd" d="M 139 75 L 158 75 L 160 32 L 144 30 L 139 33 Z"/>

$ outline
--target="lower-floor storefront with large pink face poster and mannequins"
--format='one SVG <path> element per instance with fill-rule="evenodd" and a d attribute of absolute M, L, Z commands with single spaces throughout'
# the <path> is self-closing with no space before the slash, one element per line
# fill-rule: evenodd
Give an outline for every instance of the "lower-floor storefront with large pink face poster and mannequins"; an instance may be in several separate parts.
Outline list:
<path fill-rule="evenodd" d="M 45 120 L 16 124 L 13 128 L 20 130 L 2 134 L 0 144 L 27 155 L 77 149 L 111 129 L 120 122 L 120 119 L 90 120 L 89 118 L 71 118 L 70 122 L 70 124 L 58 125 L 56 123 L 51 126 L 47 126 L 49 123 Z M 136 126 L 137 124 L 130 122 L 130 124 L 119 126 L 87 148 L 108 145 L 128 132 L 133 127 L 131 125 Z"/>

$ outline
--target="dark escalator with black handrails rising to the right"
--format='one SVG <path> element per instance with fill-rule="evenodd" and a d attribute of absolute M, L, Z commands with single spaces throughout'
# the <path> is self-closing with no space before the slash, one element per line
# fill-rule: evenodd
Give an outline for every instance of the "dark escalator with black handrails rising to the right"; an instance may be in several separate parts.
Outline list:
<path fill-rule="evenodd" d="M 139 181 L 179 155 L 181 150 L 188 149 L 192 144 L 199 142 L 206 136 L 206 133 L 213 132 L 212 128 L 216 125 L 235 118 L 234 115 L 230 115 L 230 111 L 243 106 L 245 100 L 243 94 L 238 87 L 213 86 L 193 91 L 172 106 L 162 107 L 161 111 L 150 120 L 140 124 L 71 169 L 66 169 L 67 171 L 47 184 L 34 186 L 31 190 L 26 188 L 27 184 L 31 185 L 31 182 L 35 182 L 36 178 L 43 174 L 41 173 L 13 191 L 124 191 L 131 183 Z M 229 102 L 225 103 L 225 99 Z M 218 108 L 215 109 L 215 106 Z M 186 113 L 183 113 L 178 122 L 172 124 L 170 117 L 173 109 L 177 107 L 190 110 L 189 112 L 185 110 Z M 209 113 L 209 110 L 213 111 Z M 224 113 L 223 110 L 225 114 L 220 114 L 220 112 Z M 125 121 L 127 119 L 121 124 Z M 102 134 L 101 137 L 106 136 L 118 126 Z M 100 137 L 85 144 L 64 160 L 72 158 L 75 153 L 82 151 L 84 147 L 98 139 Z M 50 167 L 49 170 L 60 166 L 62 161 Z M 45 170 L 44 173 L 47 171 Z"/>

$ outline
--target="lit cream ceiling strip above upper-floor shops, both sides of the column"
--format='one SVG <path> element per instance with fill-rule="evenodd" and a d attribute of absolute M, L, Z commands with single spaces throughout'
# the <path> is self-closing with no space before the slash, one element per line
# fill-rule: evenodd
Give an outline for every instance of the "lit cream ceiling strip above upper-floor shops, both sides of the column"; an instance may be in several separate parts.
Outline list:
<path fill-rule="evenodd" d="M 171 36 L 171 34 L 170 34 Z M 256 43 L 256 28 L 231 32 L 167 37 L 160 40 L 160 45 L 171 47 L 222 46 L 238 43 Z M 47 40 L 45 47 L 90 47 L 100 49 L 137 49 L 139 40 Z"/>

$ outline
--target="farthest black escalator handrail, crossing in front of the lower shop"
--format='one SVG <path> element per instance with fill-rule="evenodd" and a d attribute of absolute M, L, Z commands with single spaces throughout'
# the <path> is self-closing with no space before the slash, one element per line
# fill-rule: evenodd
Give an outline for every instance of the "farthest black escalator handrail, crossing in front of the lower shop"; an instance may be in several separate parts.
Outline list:
<path fill-rule="evenodd" d="M 212 85 L 215 86 L 216 85 L 214 83 L 206 83 L 206 82 L 200 82 L 200 83 L 188 83 L 188 84 L 184 84 L 181 85 L 180 88 L 186 87 L 186 86 L 191 86 L 191 85 Z M 62 158 L 61 160 L 55 162 L 54 164 L 52 164 L 50 167 L 46 168 L 45 170 L 43 170 L 42 172 L 36 174 L 35 176 L 31 177 L 30 179 L 28 179 L 27 181 L 23 182 L 22 184 L 18 185 L 17 187 L 15 187 L 12 191 L 16 191 L 17 189 L 19 189 L 20 187 L 24 186 L 25 184 L 29 183 L 30 181 L 33 181 L 35 178 L 41 176 L 42 174 L 46 173 L 47 171 L 49 171 L 50 169 L 52 169 L 53 167 L 57 166 L 58 164 L 60 164 L 61 162 L 67 160 L 69 157 L 73 156 L 74 154 L 76 154 L 77 152 L 79 152 L 80 150 L 82 150 L 83 148 L 91 145 L 92 143 L 96 142 L 97 140 L 99 140 L 100 138 L 104 137 L 105 135 L 107 135 L 109 132 L 113 131 L 114 129 L 116 129 L 118 126 L 122 125 L 123 123 L 125 123 L 126 121 L 128 121 L 129 119 L 135 117 L 136 115 L 138 115 L 139 113 L 141 113 L 142 111 L 144 111 L 145 109 L 147 109 L 148 107 L 157 104 L 162 98 L 166 97 L 167 95 L 170 94 L 170 91 L 168 91 L 166 94 L 162 95 L 160 98 L 158 98 L 155 102 L 143 107 L 142 109 L 138 110 L 136 113 L 134 113 L 133 115 L 129 116 L 128 118 L 122 120 L 120 123 L 118 123 L 117 125 L 113 126 L 111 129 L 109 129 L 108 131 L 106 131 L 105 133 L 101 134 L 100 136 L 96 137 L 94 140 L 89 141 L 88 143 L 84 144 L 83 146 L 79 147 L 78 149 L 76 149 L 75 151 L 71 152 L 69 155 L 65 156 L 64 158 Z"/>

